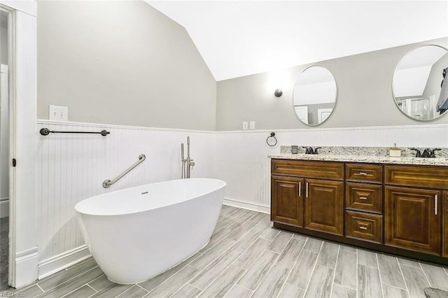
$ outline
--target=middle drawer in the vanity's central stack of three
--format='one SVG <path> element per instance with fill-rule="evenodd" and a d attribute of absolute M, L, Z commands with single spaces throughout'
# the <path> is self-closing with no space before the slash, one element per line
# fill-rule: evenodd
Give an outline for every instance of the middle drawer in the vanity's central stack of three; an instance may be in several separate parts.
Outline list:
<path fill-rule="evenodd" d="M 346 183 L 346 208 L 382 213 L 382 185 Z"/>

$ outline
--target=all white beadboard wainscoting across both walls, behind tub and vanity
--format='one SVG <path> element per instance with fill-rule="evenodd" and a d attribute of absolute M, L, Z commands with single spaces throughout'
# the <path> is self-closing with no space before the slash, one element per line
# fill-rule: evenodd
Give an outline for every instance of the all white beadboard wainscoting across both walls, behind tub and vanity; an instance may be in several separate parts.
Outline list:
<path fill-rule="evenodd" d="M 192 177 L 218 178 L 228 186 L 225 204 L 270 212 L 270 159 L 280 146 L 448 147 L 448 125 L 204 132 L 38 120 L 38 130 L 94 131 L 111 134 L 38 135 L 38 275 L 48 276 L 89 255 L 75 204 L 87 197 L 181 176 L 180 148 L 190 136 Z M 266 139 L 276 133 L 278 143 Z M 113 179 L 146 161 L 109 189 Z M 113 245 L 113 243 L 111 243 Z"/>

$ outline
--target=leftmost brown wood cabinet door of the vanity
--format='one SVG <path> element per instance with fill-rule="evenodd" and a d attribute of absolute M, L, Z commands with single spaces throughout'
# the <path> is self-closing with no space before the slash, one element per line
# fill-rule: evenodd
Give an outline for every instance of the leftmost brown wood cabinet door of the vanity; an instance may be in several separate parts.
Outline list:
<path fill-rule="evenodd" d="M 303 179 L 271 176 L 271 220 L 303 227 Z"/>

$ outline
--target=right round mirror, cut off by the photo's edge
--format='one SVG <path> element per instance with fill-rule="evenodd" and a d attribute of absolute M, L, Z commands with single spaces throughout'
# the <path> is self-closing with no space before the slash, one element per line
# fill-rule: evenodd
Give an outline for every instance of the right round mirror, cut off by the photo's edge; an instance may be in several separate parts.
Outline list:
<path fill-rule="evenodd" d="M 448 110 L 448 50 L 423 45 L 401 59 L 392 80 L 400 111 L 415 120 L 433 120 Z"/>

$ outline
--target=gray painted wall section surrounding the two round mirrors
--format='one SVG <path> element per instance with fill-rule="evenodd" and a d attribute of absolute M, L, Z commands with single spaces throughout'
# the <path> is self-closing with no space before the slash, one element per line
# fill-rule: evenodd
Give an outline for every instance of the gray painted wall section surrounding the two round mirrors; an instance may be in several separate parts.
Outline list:
<path fill-rule="evenodd" d="M 395 67 L 409 50 L 426 44 L 448 48 L 448 37 L 219 81 L 216 129 L 241 130 L 241 123 L 251 120 L 255 121 L 256 129 L 308 127 L 295 116 L 292 94 L 297 77 L 312 65 L 321 65 L 331 71 L 337 85 L 335 111 L 318 127 L 448 123 L 447 115 L 430 122 L 407 118 L 393 100 L 391 86 Z M 330 46 L 328 50 L 331 50 Z M 276 78 L 283 79 L 273 85 L 272 81 Z M 276 98 L 274 90 L 279 87 L 283 89 L 283 96 Z"/>

